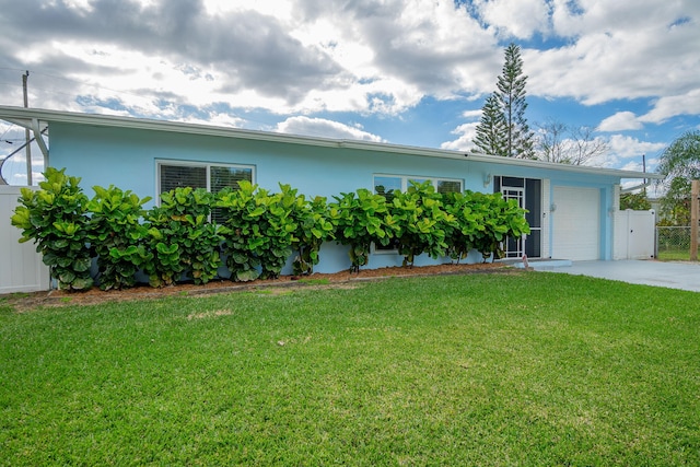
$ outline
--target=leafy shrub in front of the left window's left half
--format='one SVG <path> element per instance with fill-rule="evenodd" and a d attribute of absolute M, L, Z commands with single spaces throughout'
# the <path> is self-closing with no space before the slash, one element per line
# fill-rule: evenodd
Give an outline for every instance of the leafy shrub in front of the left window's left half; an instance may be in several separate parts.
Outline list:
<path fill-rule="evenodd" d="M 217 277 L 223 236 L 209 222 L 213 197 L 203 188 L 175 188 L 162 194 L 161 206 L 149 211 L 148 246 L 153 259 L 145 272 L 152 287 L 172 285 L 187 276 L 197 284 Z"/>

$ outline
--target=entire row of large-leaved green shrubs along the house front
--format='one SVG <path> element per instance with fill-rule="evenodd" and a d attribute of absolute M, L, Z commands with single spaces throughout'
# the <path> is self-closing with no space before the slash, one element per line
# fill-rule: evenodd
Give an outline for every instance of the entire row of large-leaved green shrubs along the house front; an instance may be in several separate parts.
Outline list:
<path fill-rule="evenodd" d="M 222 256 L 234 281 L 278 278 L 294 250 L 293 273 L 308 275 L 330 240 L 350 247 L 352 271 L 368 264 L 373 243 L 394 242 L 405 266 L 421 254 L 458 261 L 472 249 L 486 261 L 503 256 L 508 237 L 529 232 L 514 200 L 468 190 L 441 195 L 430 182 L 384 195 L 360 188 L 330 203 L 323 197 L 307 200 L 281 184 L 277 194 L 245 180 L 217 195 L 184 187 L 161 195 L 161 206 L 140 223 L 150 198 L 94 187 L 89 202 L 79 178 L 50 167 L 45 176 L 40 190 L 22 190 L 23 206 L 12 223 L 23 229 L 22 242 L 37 243 L 60 287 L 69 290 L 92 287 L 91 248 L 100 285 L 108 290 L 132 287 L 139 269 L 152 287 L 185 278 L 207 283 L 218 276 Z M 209 221 L 212 208 L 221 224 Z"/>

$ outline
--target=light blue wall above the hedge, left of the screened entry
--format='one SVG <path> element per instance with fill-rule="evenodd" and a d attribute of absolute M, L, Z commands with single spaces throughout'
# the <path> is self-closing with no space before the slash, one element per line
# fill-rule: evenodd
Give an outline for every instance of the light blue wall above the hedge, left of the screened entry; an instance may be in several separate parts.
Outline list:
<path fill-rule="evenodd" d="M 459 178 L 483 189 L 481 174 L 463 161 L 387 154 L 352 149 L 213 138 L 119 128 L 51 125 L 50 165 L 67 167 L 93 185 L 116 185 L 139 196 L 155 197 L 155 161 L 201 161 L 255 166 L 260 187 L 289 184 L 307 196 L 330 198 L 342 191 L 372 189 L 373 174 L 388 173 Z"/>

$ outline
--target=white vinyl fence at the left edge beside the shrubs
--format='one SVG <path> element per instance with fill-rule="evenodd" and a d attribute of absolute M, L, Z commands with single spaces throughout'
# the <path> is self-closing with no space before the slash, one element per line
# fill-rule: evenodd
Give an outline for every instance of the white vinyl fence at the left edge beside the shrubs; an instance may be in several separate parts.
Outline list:
<path fill-rule="evenodd" d="M 32 242 L 19 243 L 21 231 L 10 223 L 20 187 L 0 185 L 0 294 L 48 290 L 48 267 Z"/>

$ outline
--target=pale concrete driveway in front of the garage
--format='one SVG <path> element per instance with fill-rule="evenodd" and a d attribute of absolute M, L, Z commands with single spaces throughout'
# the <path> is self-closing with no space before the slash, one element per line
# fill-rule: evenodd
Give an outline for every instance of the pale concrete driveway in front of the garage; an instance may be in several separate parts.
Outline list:
<path fill-rule="evenodd" d="M 699 262 L 666 262 L 651 259 L 573 261 L 571 266 L 561 266 L 548 270 L 700 292 Z"/>

